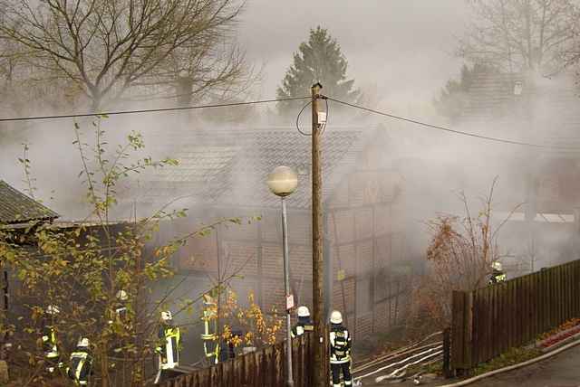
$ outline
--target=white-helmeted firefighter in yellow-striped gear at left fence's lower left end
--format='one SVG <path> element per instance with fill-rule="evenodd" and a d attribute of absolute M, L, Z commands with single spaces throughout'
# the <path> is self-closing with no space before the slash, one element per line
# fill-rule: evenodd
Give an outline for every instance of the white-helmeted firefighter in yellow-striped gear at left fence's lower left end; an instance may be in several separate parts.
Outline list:
<path fill-rule="evenodd" d="M 171 373 L 179 365 L 179 340 L 180 332 L 178 326 L 173 326 L 171 312 L 161 312 L 161 324 L 159 330 L 159 345 L 155 352 L 159 354 L 159 369 L 155 384 L 161 380 L 163 373 Z"/>

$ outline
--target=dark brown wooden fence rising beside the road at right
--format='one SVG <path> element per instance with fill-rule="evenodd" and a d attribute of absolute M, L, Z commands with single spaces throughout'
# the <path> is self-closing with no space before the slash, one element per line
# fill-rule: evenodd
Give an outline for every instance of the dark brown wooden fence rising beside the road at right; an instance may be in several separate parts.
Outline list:
<path fill-rule="evenodd" d="M 579 316 L 580 260 L 453 292 L 451 367 L 469 370 Z"/>

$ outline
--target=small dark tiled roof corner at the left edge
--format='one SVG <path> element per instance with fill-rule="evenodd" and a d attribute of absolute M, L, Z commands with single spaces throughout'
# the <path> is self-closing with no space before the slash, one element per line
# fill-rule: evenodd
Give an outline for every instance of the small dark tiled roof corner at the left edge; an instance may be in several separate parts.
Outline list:
<path fill-rule="evenodd" d="M 0 180 L 0 223 L 51 221 L 59 214 Z"/>

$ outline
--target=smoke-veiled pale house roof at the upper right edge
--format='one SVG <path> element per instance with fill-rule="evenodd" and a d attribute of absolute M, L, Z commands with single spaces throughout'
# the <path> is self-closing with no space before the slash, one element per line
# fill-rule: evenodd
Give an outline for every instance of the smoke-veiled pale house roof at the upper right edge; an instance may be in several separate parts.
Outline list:
<path fill-rule="evenodd" d="M 519 95 L 517 85 L 521 85 Z M 461 124 L 480 125 L 487 134 L 509 139 L 580 149 L 578 91 L 573 74 L 548 79 L 523 73 L 479 73 L 469 88 Z M 563 149 L 539 153 L 580 156 Z"/>

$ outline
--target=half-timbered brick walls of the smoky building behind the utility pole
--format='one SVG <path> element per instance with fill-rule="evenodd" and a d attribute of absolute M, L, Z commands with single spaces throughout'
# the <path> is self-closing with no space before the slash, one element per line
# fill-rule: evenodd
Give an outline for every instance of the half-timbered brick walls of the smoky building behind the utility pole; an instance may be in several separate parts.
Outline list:
<path fill-rule="evenodd" d="M 401 209 L 401 177 L 382 168 L 377 155 L 344 175 L 324 203 L 325 260 L 332 264 L 331 307 L 343 312 L 357 339 L 387 332 L 401 322 L 410 283 Z M 372 156 L 374 155 L 374 156 Z M 192 210 L 193 213 L 195 213 Z M 259 208 L 215 208 L 205 220 L 222 216 L 262 215 L 260 222 L 218 227 L 179 252 L 182 271 L 217 277 L 237 273 L 241 295 L 253 291 L 265 311 L 285 309 L 280 212 Z M 183 229 L 179 221 L 173 232 Z M 189 221 L 191 222 L 191 221 Z M 312 306 L 312 217 L 309 210 L 288 205 L 288 238 L 292 293 L 297 305 Z M 179 233 L 179 232 L 178 232 Z M 183 233 L 183 232 L 181 232 Z M 218 268 L 219 262 L 219 268 Z M 403 270 L 401 270 L 403 268 Z M 240 297 L 241 299 L 242 297 Z"/>

